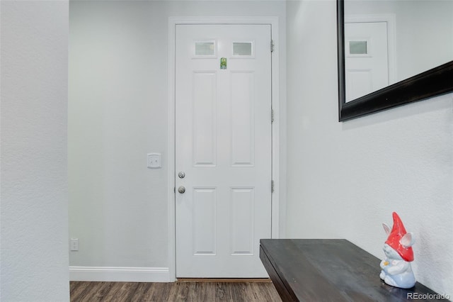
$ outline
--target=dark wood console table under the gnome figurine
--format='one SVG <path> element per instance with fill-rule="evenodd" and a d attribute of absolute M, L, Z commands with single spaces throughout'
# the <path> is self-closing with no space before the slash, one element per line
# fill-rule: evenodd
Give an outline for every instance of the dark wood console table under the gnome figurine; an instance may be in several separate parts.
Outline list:
<path fill-rule="evenodd" d="M 262 239 L 260 259 L 282 301 L 408 301 L 437 295 L 419 283 L 413 289 L 384 284 L 381 260 L 348 240 Z M 420 301 L 435 301 L 427 297 Z"/>

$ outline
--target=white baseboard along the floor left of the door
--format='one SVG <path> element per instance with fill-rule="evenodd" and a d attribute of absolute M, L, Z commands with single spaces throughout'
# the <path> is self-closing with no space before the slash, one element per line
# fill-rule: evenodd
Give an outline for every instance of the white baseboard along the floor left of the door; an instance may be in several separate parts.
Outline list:
<path fill-rule="evenodd" d="M 69 267 L 70 281 L 170 282 L 168 267 Z"/>

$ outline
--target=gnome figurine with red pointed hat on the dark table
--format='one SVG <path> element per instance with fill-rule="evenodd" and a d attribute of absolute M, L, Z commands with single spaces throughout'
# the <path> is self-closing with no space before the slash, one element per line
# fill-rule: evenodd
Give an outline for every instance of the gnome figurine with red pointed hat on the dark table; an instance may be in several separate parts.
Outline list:
<path fill-rule="evenodd" d="M 386 284 L 410 289 L 415 285 L 415 276 L 412 272 L 413 261 L 412 245 L 414 244 L 413 233 L 407 233 L 401 218 L 393 213 L 394 225 L 390 230 L 389 225 L 382 223 L 389 237 L 384 244 L 385 259 L 381 262 L 381 274 L 379 277 Z"/>

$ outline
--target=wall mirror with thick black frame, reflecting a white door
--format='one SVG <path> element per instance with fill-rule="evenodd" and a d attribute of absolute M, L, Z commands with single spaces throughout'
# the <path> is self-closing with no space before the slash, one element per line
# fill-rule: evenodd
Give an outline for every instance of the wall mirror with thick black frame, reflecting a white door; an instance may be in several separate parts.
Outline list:
<path fill-rule="evenodd" d="M 337 0 L 339 121 L 453 91 L 453 0 Z"/>

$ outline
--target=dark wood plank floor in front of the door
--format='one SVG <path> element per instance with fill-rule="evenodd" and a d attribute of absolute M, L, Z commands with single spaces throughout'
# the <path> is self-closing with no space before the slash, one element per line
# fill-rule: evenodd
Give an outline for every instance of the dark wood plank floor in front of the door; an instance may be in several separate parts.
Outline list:
<path fill-rule="evenodd" d="M 268 281 L 173 283 L 71 281 L 71 302 L 93 301 L 282 301 Z"/>

